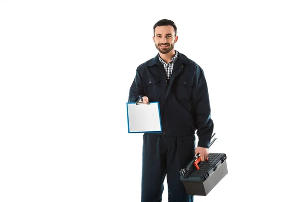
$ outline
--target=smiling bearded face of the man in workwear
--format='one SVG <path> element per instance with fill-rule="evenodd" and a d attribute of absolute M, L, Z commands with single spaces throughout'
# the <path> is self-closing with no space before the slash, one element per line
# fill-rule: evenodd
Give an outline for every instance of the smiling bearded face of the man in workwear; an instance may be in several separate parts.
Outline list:
<path fill-rule="evenodd" d="M 158 26 L 155 28 L 155 36 L 153 36 L 153 39 L 158 51 L 162 54 L 167 54 L 174 49 L 178 36 L 175 36 L 173 26 Z"/>

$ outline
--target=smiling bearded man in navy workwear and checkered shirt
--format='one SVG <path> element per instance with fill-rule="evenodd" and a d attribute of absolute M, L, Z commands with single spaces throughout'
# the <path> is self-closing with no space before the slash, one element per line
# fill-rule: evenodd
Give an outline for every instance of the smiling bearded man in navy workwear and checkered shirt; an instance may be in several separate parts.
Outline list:
<path fill-rule="evenodd" d="M 143 134 L 141 201 L 162 200 L 165 176 L 170 202 L 193 201 L 179 171 L 195 154 L 201 161 L 209 155 L 214 124 L 207 82 L 203 70 L 175 50 L 178 36 L 173 21 L 158 21 L 153 40 L 159 54 L 137 67 L 128 97 L 128 102 L 160 104 L 162 133 Z"/>

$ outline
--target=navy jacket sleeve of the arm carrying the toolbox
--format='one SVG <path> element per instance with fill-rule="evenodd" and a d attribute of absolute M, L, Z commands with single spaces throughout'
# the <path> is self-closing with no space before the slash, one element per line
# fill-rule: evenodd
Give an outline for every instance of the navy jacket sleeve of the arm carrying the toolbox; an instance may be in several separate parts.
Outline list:
<path fill-rule="evenodd" d="M 203 70 L 198 65 L 196 65 L 193 77 L 192 106 L 192 114 L 197 128 L 197 146 L 209 148 L 214 130 L 214 122 L 211 119 L 207 82 Z"/>

